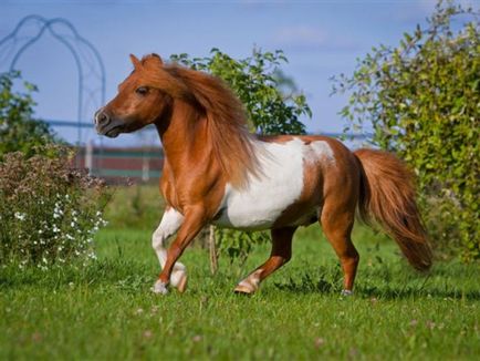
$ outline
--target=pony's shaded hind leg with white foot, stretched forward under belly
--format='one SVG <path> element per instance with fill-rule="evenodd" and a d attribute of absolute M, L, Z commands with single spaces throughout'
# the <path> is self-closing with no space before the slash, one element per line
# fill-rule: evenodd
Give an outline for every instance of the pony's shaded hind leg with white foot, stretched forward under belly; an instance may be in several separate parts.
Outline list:
<path fill-rule="evenodd" d="M 276 269 L 286 264 L 292 257 L 292 238 L 296 227 L 272 229 L 272 251 L 270 258 L 247 278 L 244 278 L 234 291 L 251 295 L 259 289 L 260 282 Z"/>

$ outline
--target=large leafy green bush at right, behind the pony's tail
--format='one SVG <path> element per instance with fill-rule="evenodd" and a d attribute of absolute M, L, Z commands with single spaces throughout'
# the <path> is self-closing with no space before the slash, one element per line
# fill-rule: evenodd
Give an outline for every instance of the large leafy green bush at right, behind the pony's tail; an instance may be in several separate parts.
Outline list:
<path fill-rule="evenodd" d="M 465 21 L 457 29 L 456 21 Z M 439 2 L 429 25 L 398 47 L 373 48 L 335 92 L 349 92 L 341 114 L 372 124 L 373 143 L 395 151 L 418 174 L 436 244 L 480 257 L 480 25 L 478 14 Z"/>

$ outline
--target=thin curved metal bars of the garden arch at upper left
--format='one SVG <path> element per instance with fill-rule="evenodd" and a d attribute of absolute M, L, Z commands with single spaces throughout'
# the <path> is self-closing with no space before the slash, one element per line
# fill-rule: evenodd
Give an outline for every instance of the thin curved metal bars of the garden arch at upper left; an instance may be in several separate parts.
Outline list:
<path fill-rule="evenodd" d="M 94 71 L 94 66 L 92 66 L 92 63 L 90 63 L 87 68 L 90 68 L 90 71 L 96 75 L 95 78 L 100 80 L 101 82 L 101 103 L 105 103 L 105 66 L 104 63 L 102 61 L 102 56 L 100 55 L 98 51 L 96 50 L 96 48 L 90 42 L 87 41 L 85 38 L 81 37 L 79 34 L 79 32 L 76 31 L 76 29 L 74 28 L 74 25 L 67 21 L 66 19 L 63 18 L 53 18 L 53 19 L 45 19 L 41 16 L 28 16 L 25 18 L 23 18 L 14 28 L 14 30 L 8 34 L 7 37 L 4 37 L 2 40 L 0 40 L 0 50 L 2 49 L 2 47 L 4 47 L 9 41 L 13 41 L 17 42 L 18 41 L 18 33 L 21 29 L 23 29 L 28 23 L 31 22 L 36 22 L 40 23 L 40 28 L 38 29 L 38 32 L 34 37 L 32 37 L 31 39 L 29 39 L 19 50 L 17 50 L 17 52 L 13 55 L 12 61 L 10 62 L 10 70 L 13 70 L 18 60 L 20 59 L 20 56 L 31 47 L 33 45 L 35 42 L 38 42 L 42 35 L 44 34 L 44 32 L 48 30 L 50 32 L 50 34 L 55 38 L 59 42 L 61 42 L 63 45 L 66 47 L 66 49 L 70 51 L 70 53 L 72 54 L 75 64 L 76 64 L 76 69 L 77 69 L 77 75 L 79 75 L 79 91 L 77 91 L 77 145 L 81 144 L 81 123 L 82 123 L 82 118 L 83 118 L 83 106 L 84 106 L 84 92 L 85 92 L 85 84 L 84 84 L 84 78 L 85 78 L 85 72 L 84 72 L 84 68 L 82 66 L 82 56 L 81 56 L 81 52 L 80 52 L 80 47 L 84 45 L 94 55 L 94 59 L 97 62 L 97 65 L 100 68 L 100 73 L 96 73 Z M 67 30 L 70 30 L 70 32 L 73 34 L 73 42 L 67 38 L 67 35 L 63 35 L 60 34 L 56 30 L 55 30 L 55 25 L 61 25 L 66 28 Z M 85 56 L 83 56 L 83 60 L 87 62 L 87 60 L 85 59 Z M 95 89 L 94 91 L 90 91 L 91 96 L 94 93 L 97 92 L 97 89 Z"/>

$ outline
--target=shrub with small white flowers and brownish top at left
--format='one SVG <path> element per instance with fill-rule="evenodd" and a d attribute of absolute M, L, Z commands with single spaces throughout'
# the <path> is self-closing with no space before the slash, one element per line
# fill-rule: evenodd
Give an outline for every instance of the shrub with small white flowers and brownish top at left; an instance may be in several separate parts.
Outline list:
<path fill-rule="evenodd" d="M 71 168 L 73 154 L 50 145 L 0 162 L 0 264 L 45 269 L 95 258 L 93 236 L 108 197 L 100 179 Z"/>

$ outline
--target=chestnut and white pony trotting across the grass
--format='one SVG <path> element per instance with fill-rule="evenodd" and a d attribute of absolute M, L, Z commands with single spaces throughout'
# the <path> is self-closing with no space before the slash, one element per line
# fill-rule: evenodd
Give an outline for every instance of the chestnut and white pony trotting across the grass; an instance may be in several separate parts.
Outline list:
<path fill-rule="evenodd" d="M 169 286 L 185 291 L 187 270 L 178 259 L 209 224 L 271 231 L 271 255 L 238 283 L 240 293 L 255 292 L 290 260 L 300 226 L 320 221 L 342 266 L 342 295 L 352 295 L 359 261 L 351 239 L 357 213 L 383 226 L 414 268 L 431 266 L 414 177 L 395 155 L 351 152 L 326 136 L 252 134 L 241 102 L 220 79 L 164 63 L 157 54 L 131 60 L 133 72 L 94 123 L 108 137 L 154 124 L 161 140 L 166 209 L 153 234 L 161 266 L 154 292 L 167 293 Z M 165 241 L 174 234 L 167 251 Z"/>

